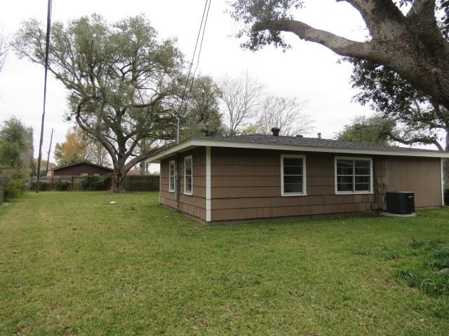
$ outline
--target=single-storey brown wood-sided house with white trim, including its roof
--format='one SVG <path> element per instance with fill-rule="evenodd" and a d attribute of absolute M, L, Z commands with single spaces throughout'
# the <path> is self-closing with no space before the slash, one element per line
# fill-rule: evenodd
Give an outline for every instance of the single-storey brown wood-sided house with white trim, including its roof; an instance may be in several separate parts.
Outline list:
<path fill-rule="evenodd" d="M 160 203 L 206 222 L 385 209 L 387 191 L 441 207 L 447 153 L 328 139 L 245 135 L 160 151 Z"/>

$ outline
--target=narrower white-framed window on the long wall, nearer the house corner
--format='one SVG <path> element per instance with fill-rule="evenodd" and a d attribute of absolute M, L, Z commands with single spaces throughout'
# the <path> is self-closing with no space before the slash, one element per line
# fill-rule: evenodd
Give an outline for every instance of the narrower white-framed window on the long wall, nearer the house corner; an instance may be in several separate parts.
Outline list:
<path fill-rule="evenodd" d="M 306 195 L 306 157 L 281 155 L 281 195 Z"/>

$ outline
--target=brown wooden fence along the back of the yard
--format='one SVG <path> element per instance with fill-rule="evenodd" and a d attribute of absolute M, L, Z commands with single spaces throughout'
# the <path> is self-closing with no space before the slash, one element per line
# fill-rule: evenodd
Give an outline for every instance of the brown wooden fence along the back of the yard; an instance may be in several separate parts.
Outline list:
<path fill-rule="evenodd" d="M 87 176 L 54 176 L 41 177 L 40 183 L 46 183 L 41 190 L 73 190 L 82 191 L 81 181 Z M 102 179 L 102 178 L 100 178 Z M 110 183 L 109 183 L 110 184 Z M 127 191 L 159 191 L 159 175 L 125 176 L 123 187 Z M 32 178 L 32 188 L 36 188 L 36 177 Z M 106 189 L 109 189 L 110 185 Z"/>

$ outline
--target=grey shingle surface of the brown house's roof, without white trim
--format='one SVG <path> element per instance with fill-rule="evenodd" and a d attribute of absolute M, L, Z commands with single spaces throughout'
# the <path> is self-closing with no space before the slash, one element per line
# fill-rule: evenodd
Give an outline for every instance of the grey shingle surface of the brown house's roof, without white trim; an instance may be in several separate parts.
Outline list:
<path fill-rule="evenodd" d="M 250 144 L 279 144 L 279 145 L 291 145 L 291 146 L 314 146 L 314 147 L 326 147 L 326 148 L 342 148 L 342 149 L 361 149 L 372 151 L 410 151 L 410 152 L 429 152 L 438 153 L 439 151 L 420 149 L 420 148 L 408 148 L 399 146 L 381 146 L 375 144 L 363 144 L 360 142 L 340 141 L 332 139 L 318 139 L 307 137 L 274 137 L 267 134 L 248 134 L 248 135 L 236 135 L 233 137 L 197 137 L 192 138 L 195 140 L 209 140 L 209 141 L 231 141 Z"/>

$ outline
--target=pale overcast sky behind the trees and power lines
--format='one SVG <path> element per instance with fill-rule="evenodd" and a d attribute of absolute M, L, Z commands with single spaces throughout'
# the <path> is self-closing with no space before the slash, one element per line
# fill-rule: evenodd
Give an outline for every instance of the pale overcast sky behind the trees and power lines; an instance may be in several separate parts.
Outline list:
<path fill-rule="evenodd" d="M 0 25 L 11 36 L 23 20 L 46 20 L 47 0 L 15 0 L 2 6 Z M 82 15 L 100 13 L 107 20 L 145 13 L 161 37 L 177 38 L 177 45 L 187 58 L 192 56 L 203 0 L 53 0 L 53 20 L 67 22 Z M 351 99 L 354 90 L 349 84 L 351 66 L 337 64 L 339 57 L 321 45 L 300 41 L 286 34 L 293 46 L 282 52 L 272 47 L 258 52 L 242 50 L 234 38 L 236 27 L 225 10 L 225 0 L 212 0 L 199 71 L 214 78 L 228 74 L 237 76 L 248 70 L 269 91 L 309 102 L 307 113 L 315 121 L 316 132 L 333 138 L 335 132 L 355 116 L 370 115 L 368 107 Z M 335 0 L 307 1 L 297 18 L 314 27 L 363 41 L 363 21 L 356 10 Z M 0 73 L 0 121 L 17 116 L 34 128 L 34 145 L 38 146 L 42 113 L 43 68 L 10 52 Z M 55 79 L 48 80 L 48 104 L 43 141 L 47 151 L 51 128 L 55 141 L 64 141 L 69 123 L 63 120 L 67 106 L 64 87 Z M 314 135 L 311 134 L 311 135 Z M 54 144 L 54 143 L 53 143 Z M 37 153 L 37 148 L 36 148 Z"/>

